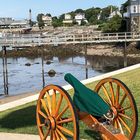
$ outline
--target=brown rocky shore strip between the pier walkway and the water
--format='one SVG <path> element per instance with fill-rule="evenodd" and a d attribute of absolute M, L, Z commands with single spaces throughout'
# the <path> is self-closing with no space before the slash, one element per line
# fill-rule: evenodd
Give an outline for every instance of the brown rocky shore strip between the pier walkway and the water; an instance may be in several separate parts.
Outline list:
<path fill-rule="evenodd" d="M 127 47 L 127 57 L 140 58 L 140 49 L 135 47 L 135 44 L 131 44 Z M 85 47 L 87 47 L 87 55 L 96 56 L 110 56 L 110 57 L 123 57 L 124 47 L 116 46 L 114 44 L 91 44 L 91 45 L 61 45 L 61 46 L 39 46 L 22 50 L 10 50 L 7 51 L 7 57 L 53 57 L 53 56 L 76 56 L 85 55 Z M 2 57 L 2 52 L 0 52 Z"/>

